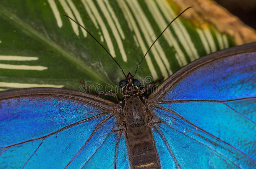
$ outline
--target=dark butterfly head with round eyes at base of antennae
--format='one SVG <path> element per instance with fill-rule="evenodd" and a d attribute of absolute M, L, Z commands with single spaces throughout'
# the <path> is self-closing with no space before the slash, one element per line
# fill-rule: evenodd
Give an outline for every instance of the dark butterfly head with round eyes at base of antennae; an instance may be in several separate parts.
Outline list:
<path fill-rule="evenodd" d="M 138 94 L 140 86 L 141 82 L 138 79 L 133 78 L 130 72 L 127 74 L 127 76 L 125 76 L 125 79 L 119 83 L 123 96 L 132 96 Z"/>

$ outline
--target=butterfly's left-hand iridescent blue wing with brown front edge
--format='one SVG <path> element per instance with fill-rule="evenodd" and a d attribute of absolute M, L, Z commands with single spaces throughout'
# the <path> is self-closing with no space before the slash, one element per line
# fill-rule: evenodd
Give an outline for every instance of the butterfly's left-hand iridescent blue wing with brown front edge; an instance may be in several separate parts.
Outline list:
<path fill-rule="evenodd" d="M 81 168 L 92 159 L 94 166 L 126 165 L 125 153 L 118 153 L 126 151 L 123 136 L 112 133 L 117 108 L 65 89 L 1 92 L 0 168 Z M 95 156 L 99 151 L 104 154 Z"/>

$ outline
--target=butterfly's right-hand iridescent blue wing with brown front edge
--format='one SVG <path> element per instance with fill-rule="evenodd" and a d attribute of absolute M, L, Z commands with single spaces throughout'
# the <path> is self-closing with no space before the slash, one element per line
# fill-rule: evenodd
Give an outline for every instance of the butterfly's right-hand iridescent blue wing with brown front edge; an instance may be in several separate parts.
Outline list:
<path fill-rule="evenodd" d="M 256 43 L 194 61 L 148 103 L 162 168 L 256 168 Z"/>

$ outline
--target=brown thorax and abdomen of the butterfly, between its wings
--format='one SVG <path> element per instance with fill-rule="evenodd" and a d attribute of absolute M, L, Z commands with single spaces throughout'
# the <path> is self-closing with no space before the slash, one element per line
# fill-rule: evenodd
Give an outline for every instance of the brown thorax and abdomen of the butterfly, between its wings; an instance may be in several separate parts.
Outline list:
<path fill-rule="evenodd" d="M 140 98 L 125 99 L 125 143 L 132 169 L 159 169 L 159 157 L 147 115 Z"/>

